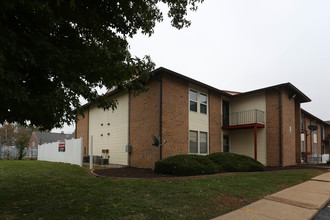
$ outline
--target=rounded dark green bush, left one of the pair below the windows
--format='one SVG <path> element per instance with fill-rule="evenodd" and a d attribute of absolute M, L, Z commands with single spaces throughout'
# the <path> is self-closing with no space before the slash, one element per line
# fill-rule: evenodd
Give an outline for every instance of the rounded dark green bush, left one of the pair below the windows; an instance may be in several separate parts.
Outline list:
<path fill-rule="evenodd" d="M 156 173 L 180 176 L 215 174 L 219 168 L 220 166 L 201 155 L 176 155 L 155 163 Z"/>

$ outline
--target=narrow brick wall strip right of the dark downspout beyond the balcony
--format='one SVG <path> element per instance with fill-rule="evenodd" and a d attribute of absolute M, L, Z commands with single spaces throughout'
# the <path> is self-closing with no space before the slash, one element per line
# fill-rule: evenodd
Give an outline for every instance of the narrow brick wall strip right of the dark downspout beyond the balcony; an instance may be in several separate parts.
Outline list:
<path fill-rule="evenodd" d="M 282 92 L 282 152 L 283 166 L 296 164 L 295 99 L 289 98 L 286 89 Z"/>

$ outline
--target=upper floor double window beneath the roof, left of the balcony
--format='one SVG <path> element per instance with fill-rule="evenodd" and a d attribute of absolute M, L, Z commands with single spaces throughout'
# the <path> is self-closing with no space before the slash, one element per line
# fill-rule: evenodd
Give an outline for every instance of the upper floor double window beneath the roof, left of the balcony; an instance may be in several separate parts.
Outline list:
<path fill-rule="evenodd" d="M 207 114 L 207 95 L 195 90 L 189 90 L 189 109 L 191 112 Z"/>

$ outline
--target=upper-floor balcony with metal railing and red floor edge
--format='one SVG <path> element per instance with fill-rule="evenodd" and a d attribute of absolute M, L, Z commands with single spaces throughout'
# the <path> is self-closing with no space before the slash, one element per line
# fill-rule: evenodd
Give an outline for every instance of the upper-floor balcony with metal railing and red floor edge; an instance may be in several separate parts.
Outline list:
<path fill-rule="evenodd" d="M 265 113 L 258 109 L 223 115 L 223 129 L 264 128 Z"/>

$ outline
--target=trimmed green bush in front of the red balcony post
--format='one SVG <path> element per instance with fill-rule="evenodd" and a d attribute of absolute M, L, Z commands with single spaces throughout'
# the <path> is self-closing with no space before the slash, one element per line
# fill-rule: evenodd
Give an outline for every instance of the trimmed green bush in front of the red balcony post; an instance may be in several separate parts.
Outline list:
<path fill-rule="evenodd" d="M 265 170 L 264 165 L 262 165 L 259 161 L 245 155 L 221 152 L 210 154 L 207 157 L 227 172 Z"/>

